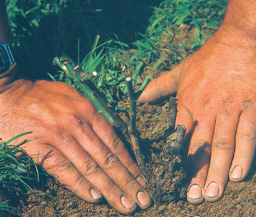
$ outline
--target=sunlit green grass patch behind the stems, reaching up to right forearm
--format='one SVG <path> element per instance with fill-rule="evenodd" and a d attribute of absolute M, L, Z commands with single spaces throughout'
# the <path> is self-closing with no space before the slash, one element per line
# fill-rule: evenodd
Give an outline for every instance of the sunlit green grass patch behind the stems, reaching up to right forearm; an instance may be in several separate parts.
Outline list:
<path fill-rule="evenodd" d="M 88 73 L 96 70 L 98 75 L 93 79 L 94 83 L 107 95 L 109 103 L 116 110 L 125 110 L 126 106 L 122 107 L 117 103 L 128 96 L 124 79 L 129 76 L 133 85 L 138 86 L 142 84 L 144 75 L 151 74 L 153 77 L 159 68 L 169 70 L 179 64 L 217 30 L 223 20 L 226 3 L 226 0 L 162 1 L 159 7 L 154 7 L 146 33 L 138 33 L 141 39 L 125 44 L 115 35 L 114 39 L 98 46 L 97 37 L 81 64 L 79 62 L 82 54 L 78 46 L 78 62 L 75 65 L 80 64 Z M 194 39 L 175 44 L 181 25 L 186 25 L 187 29 L 195 29 Z M 77 87 L 63 74 L 51 77 Z"/>

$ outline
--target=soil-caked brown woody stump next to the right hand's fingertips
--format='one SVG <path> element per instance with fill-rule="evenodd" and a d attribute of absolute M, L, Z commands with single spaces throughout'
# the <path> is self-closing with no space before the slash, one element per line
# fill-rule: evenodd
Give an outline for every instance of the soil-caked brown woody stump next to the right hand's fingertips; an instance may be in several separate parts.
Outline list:
<path fill-rule="evenodd" d="M 171 97 L 167 126 L 164 131 L 164 148 L 160 154 L 152 155 L 148 191 L 155 202 L 171 202 L 186 196 L 187 189 L 187 145 L 183 143 L 186 128 L 177 125 L 177 99 Z"/>

